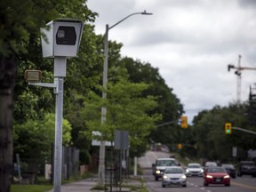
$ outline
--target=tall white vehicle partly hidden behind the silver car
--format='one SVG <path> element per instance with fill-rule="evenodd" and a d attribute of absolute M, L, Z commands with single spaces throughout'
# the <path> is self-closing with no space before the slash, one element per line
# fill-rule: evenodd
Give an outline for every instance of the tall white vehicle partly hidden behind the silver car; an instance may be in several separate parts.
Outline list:
<path fill-rule="evenodd" d="M 152 171 L 155 180 L 163 178 L 164 170 L 171 166 L 179 166 L 175 158 L 157 158 L 156 163 L 152 164 Z"/>

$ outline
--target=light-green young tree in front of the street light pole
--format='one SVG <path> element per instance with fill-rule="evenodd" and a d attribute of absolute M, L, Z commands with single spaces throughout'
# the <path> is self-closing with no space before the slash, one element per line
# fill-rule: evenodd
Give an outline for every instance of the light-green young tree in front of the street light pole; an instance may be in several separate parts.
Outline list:
<path fill-rule="evenodd" d="M 161 119 L 161 115 L 148 115 L 148 111 L 157 106 L 156 98 L 142 95 L 148 85 L 128 82 L 124 75 L 125 70 L 122 69 L 111 68 L 110 74 L 117 71 L 119 76 L 116 76 L 115 83 L 108 83 L 106 100 L 102 100 L 95 92 L 89 93 L 84 103 L 84 119 L 87 119 L 88 127 L 88 131 L 84 133 L 92 138 L 92 131 L 98 131 L 101 132 L 101 137 L 93 138 L 94 140 L 114 141 L 116 130 L 128 131 L 131 156 L 140 156 L 145 150 L 140 151 L 137 148 L 146 149 L 145 139 L 156 128 L 155 124 Z M 120 75 L 120 71 L 123 75 Z M 100 123 L 102 106 L 107 108 L 107 121 L 104 124 Z"/>

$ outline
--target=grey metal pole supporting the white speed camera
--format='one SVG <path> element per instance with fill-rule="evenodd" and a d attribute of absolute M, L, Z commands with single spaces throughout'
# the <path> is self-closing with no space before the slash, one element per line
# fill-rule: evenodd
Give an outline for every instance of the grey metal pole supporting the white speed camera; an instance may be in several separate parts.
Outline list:
<path fill-rule="evenodd" d="M 54 192 L 61 191 L 61 166 L 62 166 L 62 116 L 64 77 L 66 76 L 66 57 L 54 58 L 54 81 L 57 83 L 56 108 L 55 108 L 55 145 L 54 145 Z"/>

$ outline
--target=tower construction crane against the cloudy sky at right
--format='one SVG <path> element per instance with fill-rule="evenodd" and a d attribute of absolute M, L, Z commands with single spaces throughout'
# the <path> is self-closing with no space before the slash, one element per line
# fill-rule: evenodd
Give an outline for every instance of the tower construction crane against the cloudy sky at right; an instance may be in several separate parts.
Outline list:
<path fill-rule="evenodd" d="M 242 81 L 242 70 L 256 70 L 256 68 L 248 68 L 248 67 L 241 67 L 241 55 L 238 55 L 238 64 L 237 67 L 235 67 L 232 64 L 228 64 L 228 71 L 230 71 L 231 68 L 235 68 L 235 74 L 237 76 L 237 82 L 236 82 L 236 100 L 237 103 L 241 103 L 241 81 Z"/>

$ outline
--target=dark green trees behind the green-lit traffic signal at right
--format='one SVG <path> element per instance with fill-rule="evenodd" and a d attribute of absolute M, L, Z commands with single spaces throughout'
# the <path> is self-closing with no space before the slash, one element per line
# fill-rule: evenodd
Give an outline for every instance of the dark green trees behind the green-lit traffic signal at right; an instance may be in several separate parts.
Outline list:
<path fill-rule="evenodd" d="M 255 137 L 253 135 L 233 130 L 230 135 L 225 134 L 224 124 L 232 123 L 232 126 L 254 130 L 249 125 L 246 116 L 246 103 L 230 104 L 228 107 L 216 106 L 212 110 L 204 110 L 194 119 L 193 132 L 195 134 L 197 156 L 204 159 L 231 162 L 232 148 L 238 148 L 237 158 L 246 158 L 244 151 L 255 149 Z"/>

